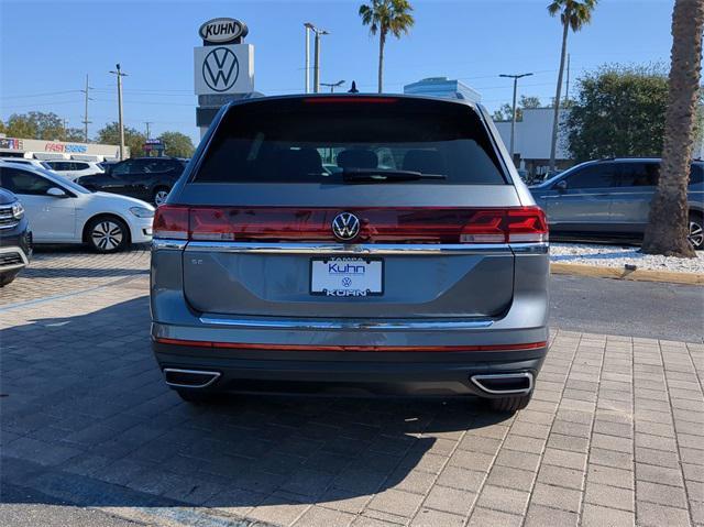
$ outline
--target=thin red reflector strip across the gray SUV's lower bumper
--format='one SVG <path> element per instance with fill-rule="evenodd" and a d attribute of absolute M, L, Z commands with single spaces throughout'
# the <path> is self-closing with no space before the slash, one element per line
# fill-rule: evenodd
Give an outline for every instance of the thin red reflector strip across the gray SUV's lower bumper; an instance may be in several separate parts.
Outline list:
<path fill-rule="evenodd" d="M 537 350 L 548 345 L 547 341 L 521 344 L 485 345 L 307 345 L 307 344 L 252 344 L 240 342 L 210 342 L 196 340 L 154 339 L 160 344 L 190 345 L 196 348 L 224 348 L 256 351 L 377 351 L 377 352 L 433 352 L 433 351 L 519 351 Z"/>

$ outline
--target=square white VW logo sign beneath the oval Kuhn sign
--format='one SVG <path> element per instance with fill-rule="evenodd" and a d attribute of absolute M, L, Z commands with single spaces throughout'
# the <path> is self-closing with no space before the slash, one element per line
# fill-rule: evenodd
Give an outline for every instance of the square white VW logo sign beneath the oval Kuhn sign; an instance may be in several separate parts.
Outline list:
<path fill-rule="evenodd" d="M 254 90 L 254 46 L 232 44 L 194 50 L 196 95 Z"/>

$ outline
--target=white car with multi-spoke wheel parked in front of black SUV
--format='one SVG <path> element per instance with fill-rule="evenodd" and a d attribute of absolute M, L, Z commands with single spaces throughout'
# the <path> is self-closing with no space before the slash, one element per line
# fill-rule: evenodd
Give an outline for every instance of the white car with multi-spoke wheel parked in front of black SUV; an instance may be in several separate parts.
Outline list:
<path fill-rule="evenodd" d="M 45 168 L 0 163 L 0 187 L 25 209 L 34 243 L 88 243 L 111 253 L 152 241 L 154 207 L 117 194 L 91 193 Z"/>

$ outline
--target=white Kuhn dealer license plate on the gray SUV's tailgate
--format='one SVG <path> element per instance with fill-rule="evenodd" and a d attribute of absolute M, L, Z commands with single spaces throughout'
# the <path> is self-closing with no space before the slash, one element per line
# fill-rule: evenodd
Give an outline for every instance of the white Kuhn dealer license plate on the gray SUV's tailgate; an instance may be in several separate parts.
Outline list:
<path fill-rule="evenodd" d="M 384 261 L 364 257 L 312 259 L 310 294 L 358 297 L 383 295 Z"/>

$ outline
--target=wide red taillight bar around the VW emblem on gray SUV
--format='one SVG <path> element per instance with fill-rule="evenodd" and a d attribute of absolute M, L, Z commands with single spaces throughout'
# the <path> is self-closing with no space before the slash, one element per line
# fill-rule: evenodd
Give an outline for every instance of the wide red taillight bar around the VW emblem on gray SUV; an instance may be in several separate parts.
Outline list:
<path fill-rule="evenodd" d="M 235 242 L 337 242 L 340 212 L 360 220 L 348 243 L 525 243 L 548 240 L 538 207 L 294 208 L 161 206 L 154 238 Z"/>

